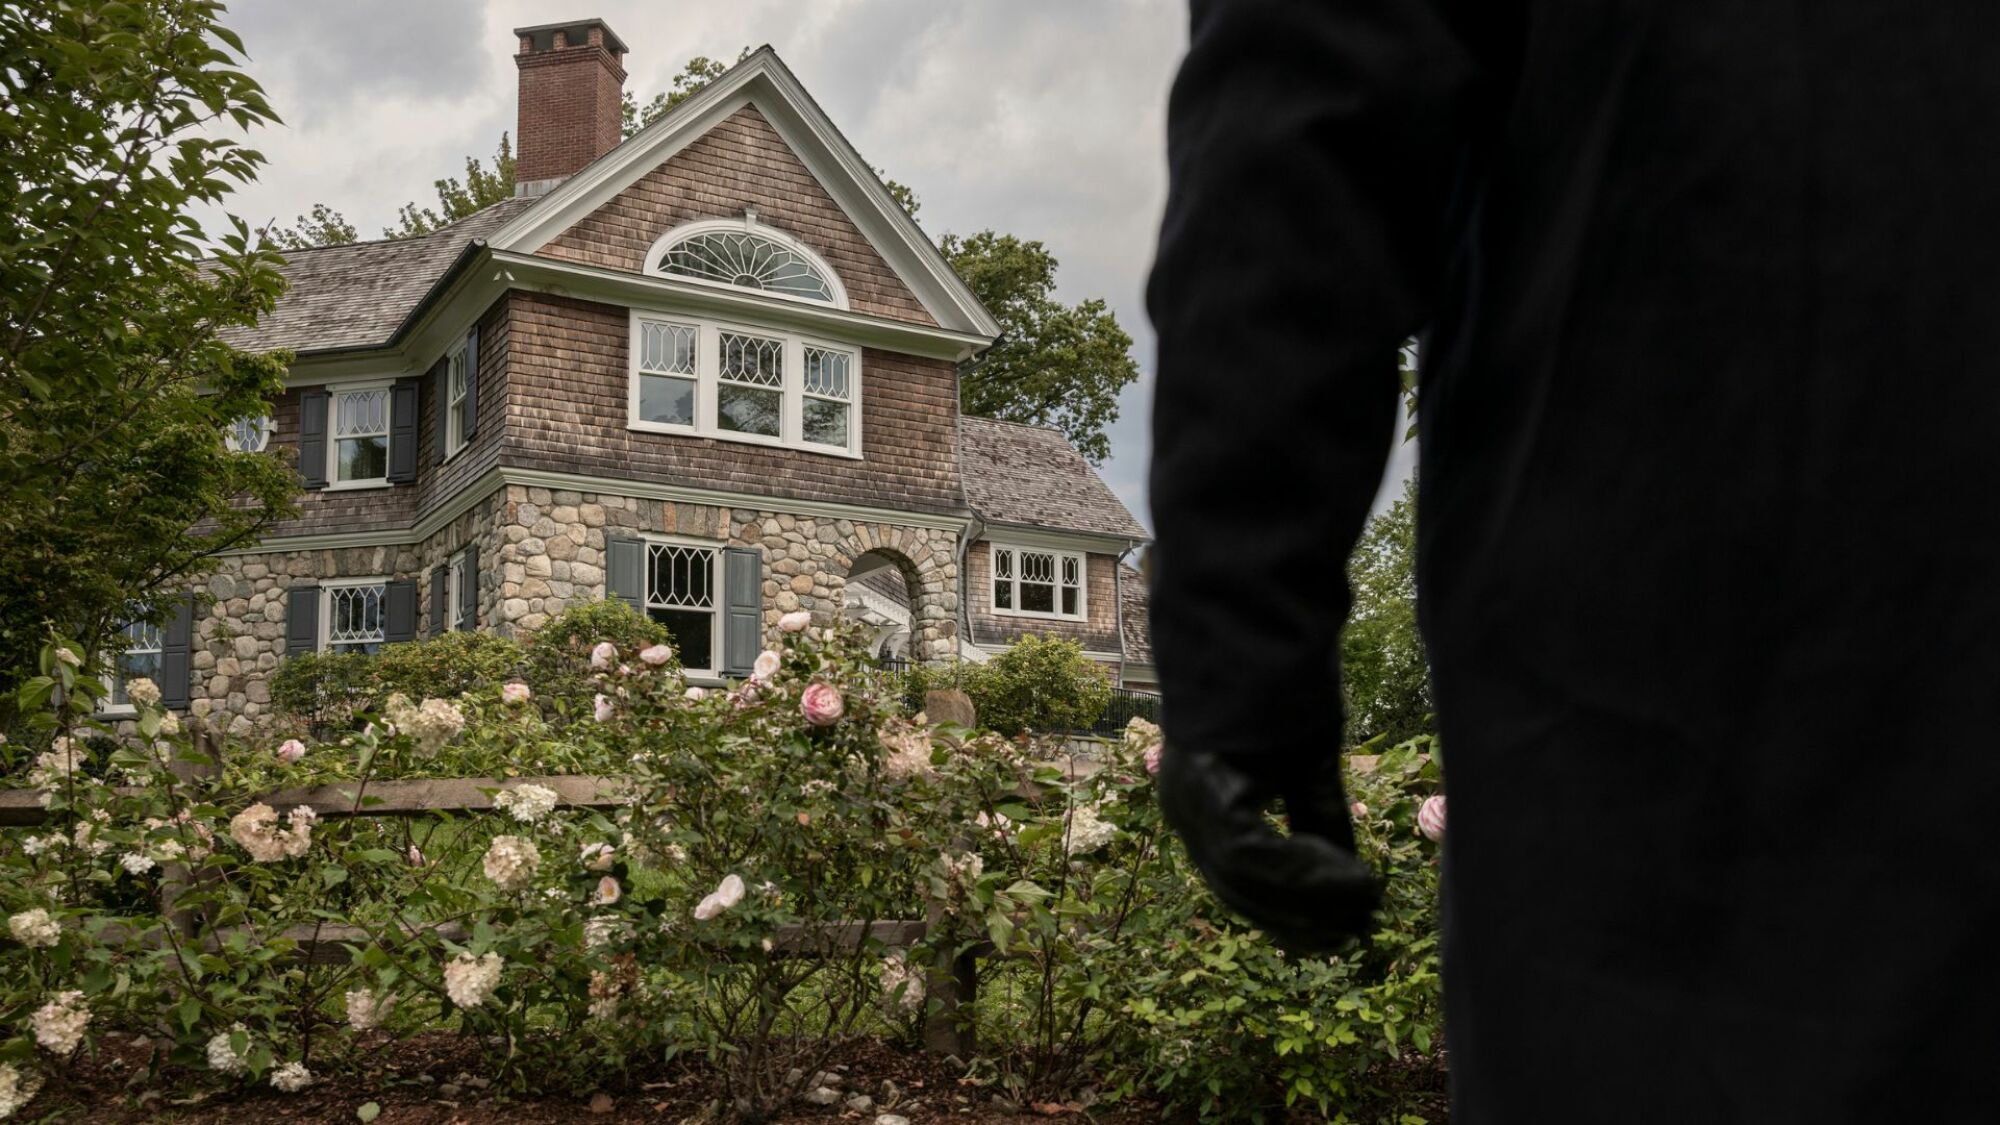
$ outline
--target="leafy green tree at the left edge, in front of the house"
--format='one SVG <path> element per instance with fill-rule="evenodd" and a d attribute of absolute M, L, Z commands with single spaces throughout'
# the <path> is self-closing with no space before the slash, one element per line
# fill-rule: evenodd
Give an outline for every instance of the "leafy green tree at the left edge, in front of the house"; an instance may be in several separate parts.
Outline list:
<path fill-rule="evenodd" d="M 0 683 L 50 629 L 96 653 L 162 621 L 162 595 L 292 510 L 276 454 L 222 444 L 288 356 L 222 340 L 276 304 L 276 252 L 242 222 L 204 246 L 190 216 L 264 162 L 218 132 L 276 120 L 220 12 L 0 4 Z"/>

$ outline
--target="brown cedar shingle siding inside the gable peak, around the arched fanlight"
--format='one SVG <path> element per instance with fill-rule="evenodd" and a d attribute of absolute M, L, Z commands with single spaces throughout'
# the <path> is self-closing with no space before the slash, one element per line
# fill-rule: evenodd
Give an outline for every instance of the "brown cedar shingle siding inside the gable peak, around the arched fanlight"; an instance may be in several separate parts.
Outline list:
<path fill-rule="evenodd" d="M 674 226 L 746 206 L 826 258 L 856 312 L 936 324 L 756 106 L 730 114 L 540 252 L 636 274 Z"/>

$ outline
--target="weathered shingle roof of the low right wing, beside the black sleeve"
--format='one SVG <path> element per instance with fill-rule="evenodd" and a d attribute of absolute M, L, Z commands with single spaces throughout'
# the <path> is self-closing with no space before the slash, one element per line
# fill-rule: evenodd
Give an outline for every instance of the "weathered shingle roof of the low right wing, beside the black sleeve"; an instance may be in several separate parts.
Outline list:
<path fill-rule="evenodd" d="M 958 472 L 988 522 L 1152 538 L 1060 430 L 960 418 Z"/>

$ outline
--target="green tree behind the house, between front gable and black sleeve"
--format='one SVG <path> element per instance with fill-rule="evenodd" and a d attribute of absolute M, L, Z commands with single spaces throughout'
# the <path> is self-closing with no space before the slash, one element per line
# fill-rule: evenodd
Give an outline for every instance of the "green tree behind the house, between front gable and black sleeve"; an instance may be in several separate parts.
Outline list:
<path fill-rule="evenodd" d="M 1000 320 L 1002 336 L 958 380 L 968 414 L 1056 426 L 1092 464 L 1110 454 L 1104 428 L 1118 392 L 1138 378 L 1132 336 L 1102 298 L 1056 298 L 1056 256 L 1040 242 L 980 230 L 940 242 L 972 294 Z"/>

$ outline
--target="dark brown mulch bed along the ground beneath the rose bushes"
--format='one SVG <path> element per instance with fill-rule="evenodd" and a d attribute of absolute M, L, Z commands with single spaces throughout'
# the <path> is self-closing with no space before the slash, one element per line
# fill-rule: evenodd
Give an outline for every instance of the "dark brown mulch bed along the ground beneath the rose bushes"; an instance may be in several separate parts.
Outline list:
<path fill-rule="evenodd" d="M 176 1125 L 236 1125 L 244 1121 L 340 1123 L 360 1121 L 358 1111 L 376 1103 L 378 1125 L 544 1125 L 576 1121 L 616 1125 L 630 1121 L 708 1121 L 710 1087 L 690 1067 L 668 1067 L 658 1075 L 636 1075 L 626 1089 L 606 1089 L 592 1097 L 510 1099 L 482 1085 L 476 1043 L 458 1035 L 418 1035 L 414 1039 L 362 1045 L 346 1069 L 332 1071 L 312 1087 L 282 1095 L 262 1089 L 216 1089 L 204 1071 L 166 1069 L 146 1073 L 148 1045 L 128 1035 L 110 1035 L 96 1055 L 78 1055 L 68 1073 L 48 1075 L 48 1085 L 22 1115 L 26 1121 L 104 1121 Z M 532 1063 L 530 1063 L 532 1065 Z M 860 1043 L 834 1067 L 848 1093 L 868 1093 L 868 1111 L 800 1105 L 776 1123 L 854 1121 L 872 1125 L 878 1113 L 898 1113 L 910 1125 L 952 1121 L 962 1125 L 1048 1125 L 1050 1121 L 1096 1121 L 1140 1125 L 1160 1121 L 1160 1111 L 1142 1103 L 1082 1107 L 1044 1103 L 1018 1107 L 998 1101 L 990 1089 L 964 1079 L 964 1067 L 934 1055 L 906 1053 L 882 1043 Z M 894 1087 L 884 1087 L 884 1079 Z M 206 1091 L 206 1093 L 204 1093 Z"/>

